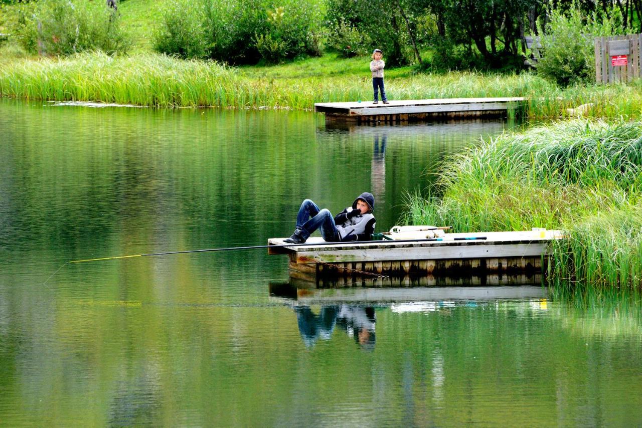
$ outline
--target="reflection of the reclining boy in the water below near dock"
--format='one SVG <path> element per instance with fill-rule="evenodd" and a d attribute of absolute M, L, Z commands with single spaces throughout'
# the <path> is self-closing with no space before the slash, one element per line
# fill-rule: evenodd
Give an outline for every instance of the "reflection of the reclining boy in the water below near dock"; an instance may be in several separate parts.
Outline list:
<path fill-rule="evenodd" d="M 372 306 L 329 305 L 321 307 L 318 314 L 309 306 L 295 306 L 294 311 L 301 338 L 308 348 L 318 339 L 331 339 L 334 327 L 339 327 L 362 349 L 374 349 L 376 316 Z"/>

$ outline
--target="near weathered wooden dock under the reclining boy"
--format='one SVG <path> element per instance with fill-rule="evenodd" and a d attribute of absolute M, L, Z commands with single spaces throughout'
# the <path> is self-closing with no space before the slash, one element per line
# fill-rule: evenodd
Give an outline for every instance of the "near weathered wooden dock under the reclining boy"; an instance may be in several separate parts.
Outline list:
<path fill-rule="evenodd" d="M 398 240 L 370 243 L 326 243 L 312 237 L 309 245 L 287 246 L 284 238 L 272 238 L 270 245 L 285 245 L 270 254 L 286 253 L 290 266 L 306 265 L 304 270 L 317 273 L 346 272 L 355 269 L 372 273 L 399 273 L 409 275 L 417 270 L 432 271 L 534 271 L 542 269 L 548 244 L 562 239 L 559 230 L 532 230 L 525 232 L 480 232 L 476 234 L 447 234 L 442 241 L 403 241 L 413 232 L 401 232 Z M 415 234 L 417 232 L 414 232 Z M 421 233 L 421 232 L 420 232 Z M 455 238 L 468 238 L 455 240 Z M 470 239 L 483 237 L 485 239 Z"/>

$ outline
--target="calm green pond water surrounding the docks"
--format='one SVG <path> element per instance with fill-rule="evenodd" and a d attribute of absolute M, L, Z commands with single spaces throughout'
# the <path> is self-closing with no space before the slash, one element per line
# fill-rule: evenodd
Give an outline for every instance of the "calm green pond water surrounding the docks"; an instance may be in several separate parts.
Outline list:
<path fill-rule="evenodd" d="M 642 424 L 635 305 L 297 294 L 263 250 L 64 264 L 263 244 L 363 191 L 388 230 L 504 127 L 0 101 L 0 425 Z"/>

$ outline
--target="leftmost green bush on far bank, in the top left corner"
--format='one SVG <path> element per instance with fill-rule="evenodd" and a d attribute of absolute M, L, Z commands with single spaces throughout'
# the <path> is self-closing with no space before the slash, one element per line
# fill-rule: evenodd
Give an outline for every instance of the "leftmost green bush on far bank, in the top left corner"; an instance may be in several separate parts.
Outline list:
<path fill-rule="evenodd" d="M 123 53 L 130 37 L 121 28 L 119 14 L 103 2 L 44 0 L 24 4 L 10 32 L 31 52 L 71 55 L 89 50 Z"/>

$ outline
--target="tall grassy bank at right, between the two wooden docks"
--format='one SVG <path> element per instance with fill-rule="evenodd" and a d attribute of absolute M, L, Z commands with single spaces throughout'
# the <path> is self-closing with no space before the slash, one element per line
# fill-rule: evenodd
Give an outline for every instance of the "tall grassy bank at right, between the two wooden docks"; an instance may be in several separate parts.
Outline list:
<path fill-rule="evenodd" d="M 572 120 L 505 133 L 444 166 L 408 221 L 458 232 L 562 228 L 550 277 L 566 291 L 642 286 L 642 124 Z"/>

